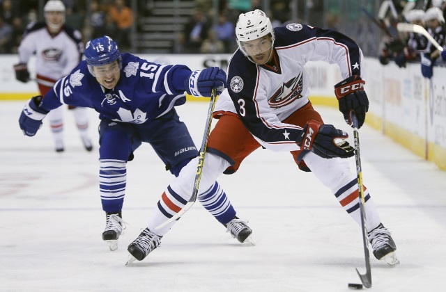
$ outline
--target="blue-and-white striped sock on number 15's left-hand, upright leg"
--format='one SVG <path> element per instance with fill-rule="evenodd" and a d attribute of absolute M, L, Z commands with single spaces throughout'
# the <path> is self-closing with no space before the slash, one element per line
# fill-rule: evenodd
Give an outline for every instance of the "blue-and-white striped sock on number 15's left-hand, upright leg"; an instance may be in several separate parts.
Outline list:
<path fill-rule="evenodd" d="M 99 188 L 102 209 L 117 213 L 123 209 L 127 170 L 125 161 L 100 159 Z"/>

